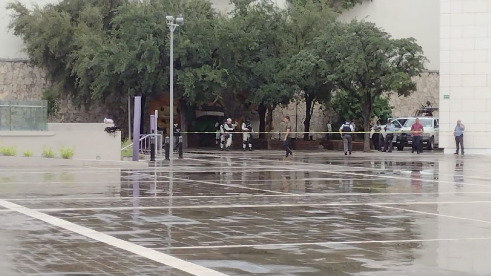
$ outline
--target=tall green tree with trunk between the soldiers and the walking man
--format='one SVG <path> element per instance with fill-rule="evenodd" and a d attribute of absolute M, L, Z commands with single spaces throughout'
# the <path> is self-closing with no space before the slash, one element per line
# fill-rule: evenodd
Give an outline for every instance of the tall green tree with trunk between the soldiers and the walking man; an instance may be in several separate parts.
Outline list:
<path fill-rule="evenodd" d="M 230 18 L 218 27 L 217 55 L 230 73 L 229 92 L 224 96 L 229 96 L 229 113 L 239 110 L 239 103 L 232 98 L 235 94 L 246 96 L 246 104 L 258 106 L 259 131 L 263 132 L 266 110 L 271 114 L 278 104 L 288 103 L 294 91 L 284 81 L 289 54 L 285 44 L 286 12 L 270 0 L 234 0 L 233 4 Z M 271 124 L 269 118 L 267 124 Z"/>

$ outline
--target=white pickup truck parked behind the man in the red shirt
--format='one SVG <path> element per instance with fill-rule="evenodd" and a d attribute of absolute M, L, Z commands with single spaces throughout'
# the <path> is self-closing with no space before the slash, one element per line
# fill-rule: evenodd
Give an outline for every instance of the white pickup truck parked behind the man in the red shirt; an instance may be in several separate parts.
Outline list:
<path fill-rule="evenodd" d="M 432 150 L 438 147 L 439 144 L 439 125 L 438 118 L 434 117 L 419 117 L 419 123 L 423 125 L 423 147 L 426 146 L 428 150 Z M 402 133 L 396 135 L 396 147 L 397 150 L 403 150 L 404 147 L 412 147 L 413 137 L 411 136 L 411 126 L 416 121 L 416 117 L 410 118 L 406 121 L 403 128 L 400 129 Z"/>

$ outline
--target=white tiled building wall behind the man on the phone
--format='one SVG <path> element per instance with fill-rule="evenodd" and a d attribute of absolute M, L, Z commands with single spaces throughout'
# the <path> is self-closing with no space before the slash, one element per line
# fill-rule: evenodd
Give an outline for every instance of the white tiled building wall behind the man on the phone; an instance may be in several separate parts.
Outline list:
<path fill-rule="evenodd" d="M 440 4 L 440 147 L 455 152 L 461 119 L 465 152 L 491 154 L 491 0 Z"/>

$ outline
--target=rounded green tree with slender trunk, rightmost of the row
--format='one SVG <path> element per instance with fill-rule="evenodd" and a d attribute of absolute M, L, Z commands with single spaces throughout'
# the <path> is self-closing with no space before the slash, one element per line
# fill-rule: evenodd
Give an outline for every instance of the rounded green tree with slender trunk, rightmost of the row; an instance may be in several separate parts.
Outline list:
<path fill-rule="evenodd" d="M 320 51 L 333 64 L 328 80 L 346 91 L 362 107 L 363 129 L 369 131 L 375 100 L 391 93 L 407 96 L 416 89 L 412 77 L 423 70 L 426 58 L 414 38 L 392 39 L 374 24 L 353 20 L 337 23 L 320 39 Z M 364 150 L 369 150 L 365 133 Z"/>

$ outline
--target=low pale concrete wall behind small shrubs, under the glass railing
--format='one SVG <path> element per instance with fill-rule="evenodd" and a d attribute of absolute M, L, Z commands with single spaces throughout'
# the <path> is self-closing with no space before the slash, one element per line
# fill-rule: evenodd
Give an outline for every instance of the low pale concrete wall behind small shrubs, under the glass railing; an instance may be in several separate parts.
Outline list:
<path fill-rule="evenodd" d="M 121 160 L 121 132 L 107 133 L 110 124 L 48 124 L 48 131 L 0 131 L 0 147 L 14 146 L 16 155 L 31 151 L 40 157 L 42 148 L 51 148 L 60 157 L 60 148 L 74 150 L 74 159 Z"/>

